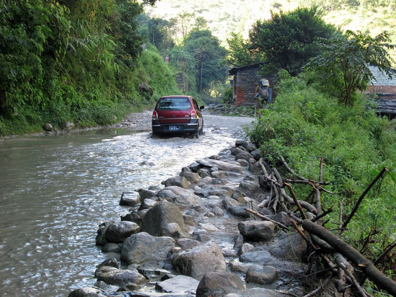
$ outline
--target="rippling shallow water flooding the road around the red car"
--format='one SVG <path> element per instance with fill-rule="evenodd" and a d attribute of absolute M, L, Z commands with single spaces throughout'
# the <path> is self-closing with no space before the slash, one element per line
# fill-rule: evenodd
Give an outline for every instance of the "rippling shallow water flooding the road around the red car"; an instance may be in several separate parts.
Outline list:
<path fill-rule="evenodd" d="M 199 139 L 119 129 L 0 141 L 0 296 L 93 286 L 106 259 L 96 230 L 128 212 L 121 193 L 160 185 L 241 136 L 211 126 L 209 116 L 205 125 Z"/>

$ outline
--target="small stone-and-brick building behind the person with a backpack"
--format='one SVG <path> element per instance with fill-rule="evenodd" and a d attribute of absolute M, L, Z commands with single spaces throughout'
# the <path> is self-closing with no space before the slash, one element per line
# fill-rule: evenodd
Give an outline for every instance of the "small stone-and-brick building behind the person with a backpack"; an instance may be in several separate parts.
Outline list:
<path fill-rule="evenodd" d="M 254 105 L 253 99 L 258 81 L 265 78 L 269 81 L 270 88 L 277 84 L 276 75 L 261 77 L 258 72 L 262 72 L 263 62 L 235 67 L 228 70 L 230 76 L 233 76 L 234 103 L 240 105 Z M 272 99 L 276 94 L 272 93 Z"/>

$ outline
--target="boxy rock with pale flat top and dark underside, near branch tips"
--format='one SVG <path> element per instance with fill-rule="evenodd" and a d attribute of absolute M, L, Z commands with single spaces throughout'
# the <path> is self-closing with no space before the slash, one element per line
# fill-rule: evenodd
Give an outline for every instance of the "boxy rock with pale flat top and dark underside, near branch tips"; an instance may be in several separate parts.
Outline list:
<path fill-rule="evenodd" d="M 239 232 L 250 241 L 270 240 L 275 225 L 267 221 L 246 221 L 238 223 Z"/>

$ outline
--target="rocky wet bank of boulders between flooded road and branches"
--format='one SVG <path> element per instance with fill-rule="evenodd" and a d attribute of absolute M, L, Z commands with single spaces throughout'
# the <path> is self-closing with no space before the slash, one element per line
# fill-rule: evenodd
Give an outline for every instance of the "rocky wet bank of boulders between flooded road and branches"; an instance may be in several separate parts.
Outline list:
<path fill-rule="evenodd" d="M 253 145 L 237 141 L 158 187 L 124 192 L 125 213 L 98 229 L 96 243 L 108 254 L 98 263 L 98 283 L 69 296 L 310 292 L 305 241 L 245 210 L 291 224 L 286 213 L 263 207 L 271 193 L 259 186 L 259 158 Z"/>

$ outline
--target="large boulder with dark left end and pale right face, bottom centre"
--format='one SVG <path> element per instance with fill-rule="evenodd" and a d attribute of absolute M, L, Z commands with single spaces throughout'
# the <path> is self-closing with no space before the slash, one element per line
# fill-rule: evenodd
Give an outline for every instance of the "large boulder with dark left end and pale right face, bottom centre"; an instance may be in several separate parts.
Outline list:
<path fill-rule="evenodd" d="M 200 280 L 206 273 L 227 270 L 221 249 L 213 242 L 175 254 L 172 266 L 176 271 L 196 280 Z"/>

